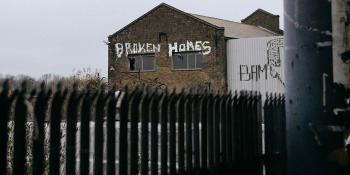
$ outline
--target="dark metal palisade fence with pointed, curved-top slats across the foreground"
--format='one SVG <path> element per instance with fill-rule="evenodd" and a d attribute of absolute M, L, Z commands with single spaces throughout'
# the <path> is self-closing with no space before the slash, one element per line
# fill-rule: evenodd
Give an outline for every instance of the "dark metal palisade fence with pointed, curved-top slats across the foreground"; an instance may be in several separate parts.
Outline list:
<path fill-rule="evenodd" d="M 5 82 L 0 92 L 0 174 L 43 174 L 47 173 L 45 166 L 49 174 L 62 173 L 62 166 L 65 174 L 76 174 L 77 167 L 80 174 L 217 174 L 238 169 L 262 174 L 264 165 L 267 174 L 277 173 L 271 162 L 282 162 L 285 157 L 284 101 L 283 96 L 270 94 L 263 104 L 256 92 L 176 93 L 126 88 L 116 93 L 102 88 L 93 93 L 77 87 L 69 91 L 62 85 L 52 91 L 44 84 L 29 93 L 25 85 L 12 91 Z M 34 123 L 29 164 L 28 116 Z M 12 166 L 8 166 L 7 155 L 10 120 L 14 122 Z M 64 149 L 62 121 L 66 122 L 64 165 L 60 160 Z M 45 165 L 47 122 L 49 160 Z M 283 171 L 283 166 L 278 167 Z"/>

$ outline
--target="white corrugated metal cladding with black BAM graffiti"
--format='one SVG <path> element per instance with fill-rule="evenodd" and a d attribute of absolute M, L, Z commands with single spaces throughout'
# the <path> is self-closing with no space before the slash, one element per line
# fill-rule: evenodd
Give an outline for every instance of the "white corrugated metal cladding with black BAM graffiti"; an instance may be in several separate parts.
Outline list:
<path fill-rule="evenodd" d="M 282 36 L 228 40 L 229 90 L 284 93 L 283 61 Z"/>

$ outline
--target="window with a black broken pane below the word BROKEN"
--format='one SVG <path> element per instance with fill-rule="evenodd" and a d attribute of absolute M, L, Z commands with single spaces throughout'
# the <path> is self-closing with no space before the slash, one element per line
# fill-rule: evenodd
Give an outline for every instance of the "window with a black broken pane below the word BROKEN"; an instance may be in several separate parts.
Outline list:
<path fill-rule="evenodd" d="M 155 70 L 155 59 L 153 54 L 129 55 L 129 71 L 144 72 Z"/>

